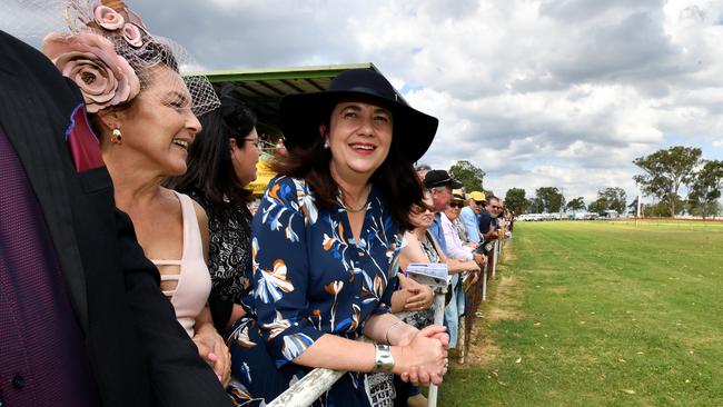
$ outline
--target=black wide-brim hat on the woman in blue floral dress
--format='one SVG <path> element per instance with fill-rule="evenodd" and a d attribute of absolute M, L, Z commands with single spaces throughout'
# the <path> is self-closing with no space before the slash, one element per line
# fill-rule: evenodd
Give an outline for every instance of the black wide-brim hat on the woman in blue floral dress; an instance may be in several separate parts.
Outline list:
<path fill-rule="evenodd" d="M 308 147 L 320 139 L 319 125 L 329 121 L 334 107 L 339 101 L 356 98 L 378 103 L 392 112 L 392 142 L 398 143 L 399 151 L 410 162 L 424 156 L 434 140 L 439 120 L 399 101 L 392 83 L 373 69 L 344 71 L 323 92 L 284 97 L 279 115 L 286 147 Z"/>

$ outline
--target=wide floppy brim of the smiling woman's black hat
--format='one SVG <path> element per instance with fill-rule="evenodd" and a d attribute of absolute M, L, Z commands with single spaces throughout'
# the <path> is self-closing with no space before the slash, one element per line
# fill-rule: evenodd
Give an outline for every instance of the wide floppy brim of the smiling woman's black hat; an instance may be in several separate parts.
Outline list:
<path fill-rule="evenodd" d="M 320 138 L 319 125 L 328 122 L 334 107 L 344 99 L 376 101 L 392 112 L 394 123 L 392 142 L 415 162 L 432 146 L 439 120 L 400 102 L 392 102 L 374 95 L 355 91 L 324 91 L 318 93 L 287 95 L 279 105 L 281 131 L 286 147 L 308 147 Z"/>

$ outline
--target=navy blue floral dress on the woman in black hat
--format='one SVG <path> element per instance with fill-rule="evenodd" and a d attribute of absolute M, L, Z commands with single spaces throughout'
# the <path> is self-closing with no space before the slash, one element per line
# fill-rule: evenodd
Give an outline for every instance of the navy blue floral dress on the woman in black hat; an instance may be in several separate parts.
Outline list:
<path fill-rule="evenodd" d="M 305 181 L 277 177 L 254 218 L 258 324 L 279 371 L 296 381 L 310 369 L 291 363 L 324 334 L 356 339 L 372 315 L 389 312 L 403 236 L 374 188 L 358 244 L 340 197 L 317 209 Z M 251 367 L 252 369 L 252 367 Z M 264 373 L 251 371 L 263 377 Z M 366 374 L 348 373 L 315 406 L 369 406 Z"/>

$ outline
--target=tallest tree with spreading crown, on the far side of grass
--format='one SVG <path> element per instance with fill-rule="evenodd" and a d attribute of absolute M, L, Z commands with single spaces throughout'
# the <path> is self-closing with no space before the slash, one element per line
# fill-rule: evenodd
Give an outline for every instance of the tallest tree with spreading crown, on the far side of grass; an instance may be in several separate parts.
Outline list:
<path fill-rule="evenodd" d="M 681 186 L 695 179 L 701 163 L 701 149 L 675 146 L 657 150 L 650 156 L 633 160 L 645 173 L 633 177 L 644 193 L 667 204 L 671 216 L 677 214 L 676 199 Z"/>

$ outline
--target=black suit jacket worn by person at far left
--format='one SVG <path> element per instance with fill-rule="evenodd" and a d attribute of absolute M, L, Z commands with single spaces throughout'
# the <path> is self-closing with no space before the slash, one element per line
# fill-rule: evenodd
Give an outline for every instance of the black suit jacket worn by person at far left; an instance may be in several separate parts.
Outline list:
<path fill-rule="evenodd" d="M 78 88 L 2 31 L 0 56 L 0 125 L 48 224 L 103 406 L 231 405 L 116 209 L 108 171 L 76 171 L 63 136 Z"/>

